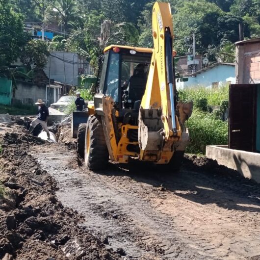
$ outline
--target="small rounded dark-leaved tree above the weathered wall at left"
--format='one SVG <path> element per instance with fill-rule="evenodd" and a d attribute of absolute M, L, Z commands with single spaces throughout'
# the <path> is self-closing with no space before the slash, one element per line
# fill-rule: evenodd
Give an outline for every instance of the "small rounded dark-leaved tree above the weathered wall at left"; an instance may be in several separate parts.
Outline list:
<path fill-rule="evenodd" d="M 20 60 L 29 70 L 32 64 L 37 69 L 43 69 L 49 54 L 47 44 L 44 41 L 30 40 L 24 46 Z"/>

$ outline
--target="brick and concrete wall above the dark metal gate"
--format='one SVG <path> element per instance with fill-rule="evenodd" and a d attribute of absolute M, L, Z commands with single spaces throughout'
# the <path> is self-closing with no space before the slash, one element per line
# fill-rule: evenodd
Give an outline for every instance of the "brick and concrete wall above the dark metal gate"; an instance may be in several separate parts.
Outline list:
<path fill-rule="evenodd" d="M 260 83 L 260 40 L 236 45 L 236 83 Z"/>

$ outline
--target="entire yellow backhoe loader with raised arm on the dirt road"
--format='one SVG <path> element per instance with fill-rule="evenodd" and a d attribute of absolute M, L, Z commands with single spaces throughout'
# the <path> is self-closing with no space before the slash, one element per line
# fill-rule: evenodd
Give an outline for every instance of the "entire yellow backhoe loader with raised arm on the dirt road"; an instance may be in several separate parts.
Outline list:
<path fill-rule="evenodd" d="M 104 49 L 85 135 L 78 138 L 91 170 L 104 169 L 109 158 L 120 163 L 138 158 L 172 169 L 181 164 L 189 142 L 184 122 L 192 104 L 177 100 L 168 3 L 154 4 L 153 40 L 154 49 L 114 45 Z"/>

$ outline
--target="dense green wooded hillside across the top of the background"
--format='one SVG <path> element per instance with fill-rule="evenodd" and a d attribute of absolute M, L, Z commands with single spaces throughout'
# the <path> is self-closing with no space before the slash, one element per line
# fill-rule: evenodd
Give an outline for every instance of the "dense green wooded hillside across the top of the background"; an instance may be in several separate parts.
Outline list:
<path fill-rule="evenodd" d="M 210 61 L 234 61 L 234 42 L 239 40 L 238 24 L 245 37 L 260 36 L 259 0 L 168 0 L 174 23 L 174 48 L 178 55 L 188 52 L 192 33 L 196 50 Z M 52 30 L 49 50 L 77 51 L 91 60 L 109 44 L 152 47 L 151 0 L 0 0 L 0 65 L 17 57 L 37 63 L 23 22 Z M 32 50 L 32 51 L 30 51 Z M 46 54 L 46 50 L 44 50 Z M 41 56 L 40 56 L 41 57 Z M 38 58 L 38 63 L 42 59 Z M 42 66 L 40 63 L 39 66 Z"/>

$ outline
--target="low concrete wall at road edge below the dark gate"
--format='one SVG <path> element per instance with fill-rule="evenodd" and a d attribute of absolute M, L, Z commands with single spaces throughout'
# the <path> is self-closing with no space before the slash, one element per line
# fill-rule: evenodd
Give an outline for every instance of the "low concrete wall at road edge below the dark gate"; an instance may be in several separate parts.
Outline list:
<path fill-rule="evenodd" d="M 238 171 L 245 178 L 260 182 L 260 154 L 210 145 L 206 147 L 206 156 Z"/>

